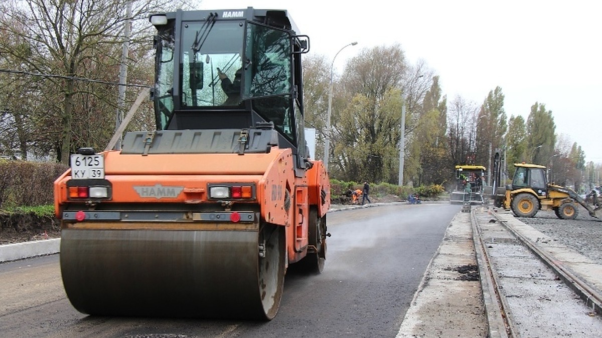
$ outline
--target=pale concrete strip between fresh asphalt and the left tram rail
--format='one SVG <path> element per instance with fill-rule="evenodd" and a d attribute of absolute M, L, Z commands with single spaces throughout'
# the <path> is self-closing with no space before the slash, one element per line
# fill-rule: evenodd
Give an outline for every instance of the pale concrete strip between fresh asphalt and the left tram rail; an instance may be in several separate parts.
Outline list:
<path fill-rule="evenodd" d="M 455 268 L 476 266 L 470 214 L 460 212 L 448 226 L 397 337 L 485 337 L 487 323 L 479 280 Z"/>

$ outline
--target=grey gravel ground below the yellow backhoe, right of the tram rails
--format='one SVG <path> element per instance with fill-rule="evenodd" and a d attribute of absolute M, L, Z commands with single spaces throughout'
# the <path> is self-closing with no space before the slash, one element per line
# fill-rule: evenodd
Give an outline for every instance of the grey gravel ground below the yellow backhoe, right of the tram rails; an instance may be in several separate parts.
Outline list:
<path fill-rule="evenodd" d="M 575 220 L 560 220 L 553 211 L 543 210 L 533 218 L 518 220 L 602 264 L 602 220 L 589 216 L 583 207 L 578 210 Z M 598 211 L 598 217 L 602 217 L 602 210 Z"/>

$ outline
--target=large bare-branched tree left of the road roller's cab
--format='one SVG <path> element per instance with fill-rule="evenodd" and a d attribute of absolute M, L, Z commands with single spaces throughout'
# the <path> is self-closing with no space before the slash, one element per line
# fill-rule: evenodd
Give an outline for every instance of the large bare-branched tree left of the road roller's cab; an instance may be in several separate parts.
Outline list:
<path fill-rule="evenodd" d="M 99 146 L 114 128 L 110 121 L 126 20 L 132 20 L 130 48 L 152 48 L 147 16 L 161 4 L 132 1 L 132 16 L 126 17 L 126 2 L 25 0 L 0 5 L 0 25 L 8 36 L 0 40 L 0 55 L 14 72 L 43 78 L 29 108 L 34 112 L 36 105 L 43 106 L 43 114 L 31 120 L 39 140 L 54 147 L 65 164 L 77 147 L 73 141 Z"/>

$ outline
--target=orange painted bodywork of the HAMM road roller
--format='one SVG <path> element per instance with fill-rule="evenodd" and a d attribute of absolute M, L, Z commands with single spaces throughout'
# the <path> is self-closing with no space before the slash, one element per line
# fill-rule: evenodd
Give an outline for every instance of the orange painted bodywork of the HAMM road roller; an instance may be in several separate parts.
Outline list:
<path fill-rule="evenodd" d="M 204 205 L 214 209 L 223 206 L 208 198 L 208 185 L 219 183 L 252 183 L 256 187 L 255 198 L 235 201 L 235 209 L 253 204 L 259 210 L 261 220 L 284 226 L 288 262 L 294 263 L 305 257 L 308 248 L 309 206 L 318 209 L 318 216 L 326 215 L 330 206 L 328 177 L 319 161 L 313 162 L 305 177 L 295 177 L 290 149 L 273 147 L 269 153 L 258 154 L 158 154 L 123 155 L 117 151 L 103 152 L 105 179 L 111 182 L 111 198 L 99 204 L 162 204 L 157 210 L 169 210 L 170 206 Z M 54 184 L 55 212 L 58 218 L 64 206 L 74 202 L 69 198 L 67 181 L 70 170 L 58 177 Z M 139 189 L 148 189 L 146 194 Z M 83 210 L 95 210 L 98 204 L 75 201 Z M 157 227 L 164 230 L 187 229 L 182 222 L 194 223 L 194 207 L 190 207 L 188 220 L 177 223 L 161 222 Z M 205 209 L 206 210 L 206 209 Z M 85 223 L 86 220 L 81 222 Z M 63 227 L 78 227 L 78 221 L 64 221 Z M 95 227 L 99 223 L 95 223 Z M 117 229 L 128 229 L 128 223 L 104 223 Z M 110 225 L 109 225 L 110 224 Z M 191 225 L 192 226 L 192 225 Z M 149 226 L 150 227 L 150 226 Z M 224 227 L 223 225 L 221 227 Z M 216 226 L 219 229 L 220 226 Z"/>

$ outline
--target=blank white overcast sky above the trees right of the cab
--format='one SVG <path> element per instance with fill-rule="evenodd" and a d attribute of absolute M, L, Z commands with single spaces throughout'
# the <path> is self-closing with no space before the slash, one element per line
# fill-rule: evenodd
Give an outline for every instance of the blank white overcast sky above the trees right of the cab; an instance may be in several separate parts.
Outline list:
<path fill-rule="evenodd" d="M 200 9 L 285 9 L 310 53 L 335 72 L 362 48 L 399 43 L 408 61 L 423 59 L 440 77 L 448 102 L 480 105 L 500 86 L 504 108 L 526 119 L 551 110 L 560 138 L 602 164 L 602 2 L 595 0 L 200 0 Z"/>

